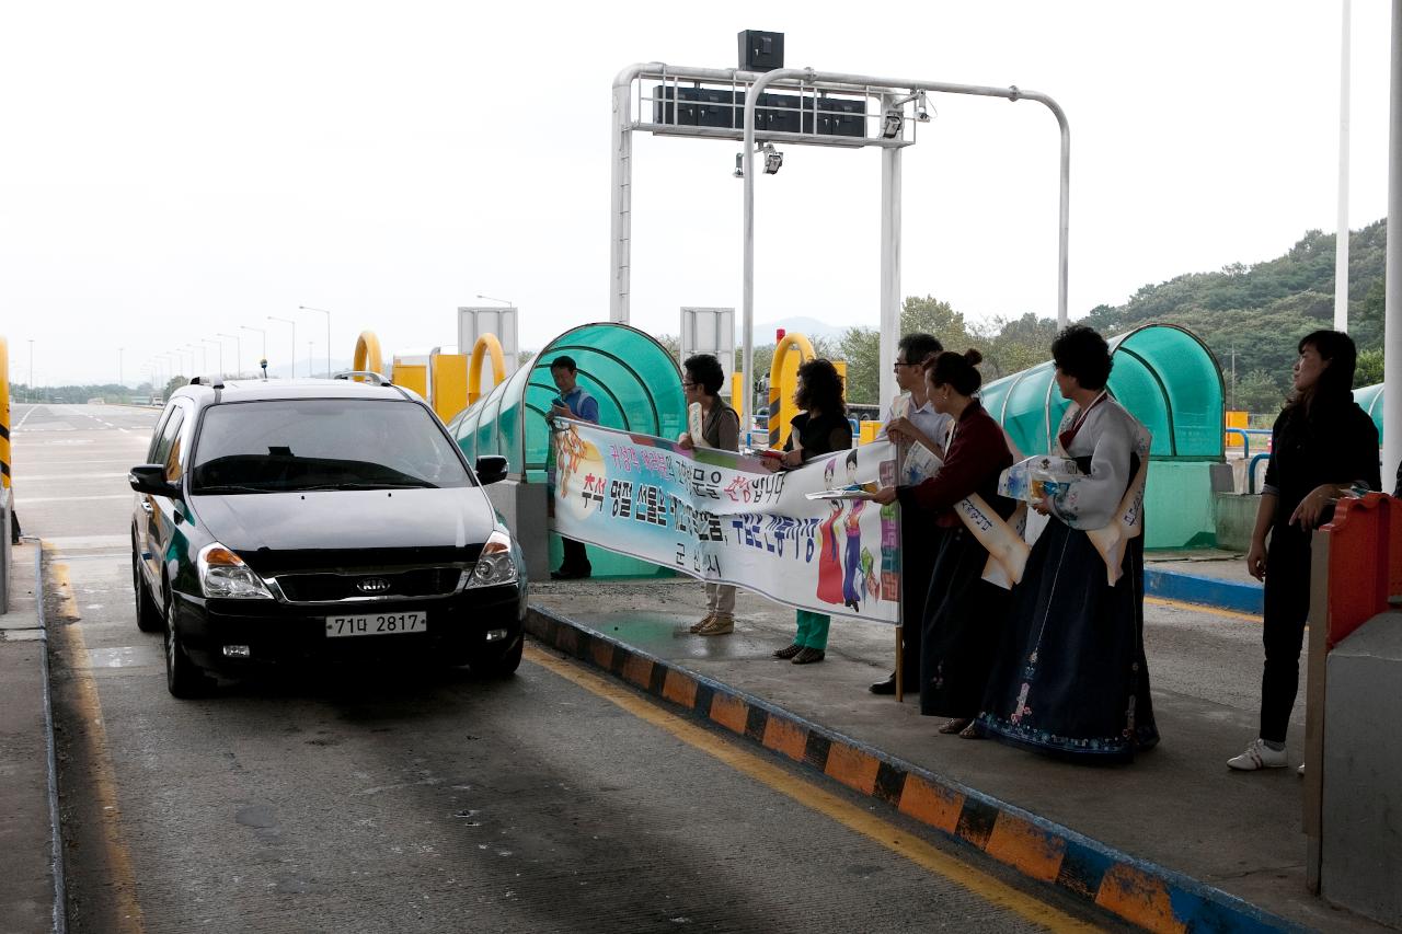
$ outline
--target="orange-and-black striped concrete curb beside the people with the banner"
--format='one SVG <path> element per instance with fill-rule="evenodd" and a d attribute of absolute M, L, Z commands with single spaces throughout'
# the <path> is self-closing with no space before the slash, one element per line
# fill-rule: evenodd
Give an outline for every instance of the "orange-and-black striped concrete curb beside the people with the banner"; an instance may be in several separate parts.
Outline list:
<path fill-rule="evenodd" d="M 526 631 L 694 719 L 723 726 L 1145 930 L 1307 930 L 550 610 L 530 607 Z"/>

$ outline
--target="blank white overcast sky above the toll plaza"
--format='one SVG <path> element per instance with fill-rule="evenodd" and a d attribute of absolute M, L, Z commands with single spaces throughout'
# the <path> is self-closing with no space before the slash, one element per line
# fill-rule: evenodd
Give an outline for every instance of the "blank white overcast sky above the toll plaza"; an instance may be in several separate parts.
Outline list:
<path fill-rule="evenodd" d="M 477 293 L 522 345 L 608 317 L 610 84 L 632 62 L 1035 88 L 1071 123 L 1071 316 L 1335 227 L 1339 3 L 6 3 L 0 335 L 18 381 L 135 383 L 269 328 L 349 358 L 457 339 Z M 1388 4 L 1353 4 L 1354 227 L 1387 205 Z M 904 154 L 904 295 L 1056 314 L 1057 132 L 935 98 Z M 635 135 L 632 323 L 740 304 L 732 142 Z M 878 325 L 880 161 L 788 147 L 757 180 L 756 320 Z M 757 335 L 764 341 L 773 335 Z M 233 341 L 229 367 L 233 367 Z M 213 360 L 213 349 L 210 349 Z"/>

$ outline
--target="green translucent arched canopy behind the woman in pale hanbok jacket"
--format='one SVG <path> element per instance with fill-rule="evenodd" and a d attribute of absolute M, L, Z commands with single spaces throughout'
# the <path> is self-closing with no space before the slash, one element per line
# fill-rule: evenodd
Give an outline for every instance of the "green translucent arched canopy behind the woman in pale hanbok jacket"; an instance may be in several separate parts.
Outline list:
<path fill-rule="evenodd" d="M 1223 463 L 1221 369 L 1190 331 L 1148 324 L 1109 341 L 1109 391 L 1152 433 L 1144 501 L 1150 548 L 1216 544 L 1211 464 Z M 1025 457 L 1052 450 L 1067 400 L 1052 360 L 990 383 L 984 408 Z"/>

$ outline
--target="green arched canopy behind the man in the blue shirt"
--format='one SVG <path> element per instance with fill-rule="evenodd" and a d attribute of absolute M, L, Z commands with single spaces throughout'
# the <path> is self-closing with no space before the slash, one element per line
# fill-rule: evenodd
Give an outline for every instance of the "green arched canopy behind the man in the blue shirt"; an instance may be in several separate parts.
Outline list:
<path fill-rule="evenodd" d="M 545 482 L 550 426 L 545 415 L 559 395 L 550 365 L 569 356 L 579 367 L 579 386 L 599 401 L 599 424 L 607 428 L 674 439 L 686 424 L 681 372 L 665 346 L 625 324 L 585 324 L 565 331 L 484 398 L 449 422 L 449 431 L 471 461 L 502 454 L 509 473 L 526 482 Z M 551 562 L 558 567 L 558 536 L 551 533 Z M 658 565 L 590 546 L 594 576 L 648 576 Z M 670 572 L 667 572 L 670 574 Z"/>

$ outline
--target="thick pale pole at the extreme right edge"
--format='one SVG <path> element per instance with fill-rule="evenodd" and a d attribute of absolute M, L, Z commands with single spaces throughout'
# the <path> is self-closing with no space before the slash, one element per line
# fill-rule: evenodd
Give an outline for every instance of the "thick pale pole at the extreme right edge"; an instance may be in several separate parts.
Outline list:
<path fill-rule="evenodd" d="M 1402 0 L 1392 0 L 1392 81 L 1388 100 L 1388 266 L 1384 287 L 1382 485 L 1402 461 Z"/>

